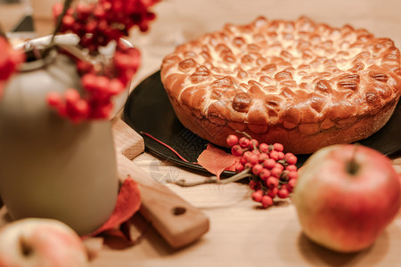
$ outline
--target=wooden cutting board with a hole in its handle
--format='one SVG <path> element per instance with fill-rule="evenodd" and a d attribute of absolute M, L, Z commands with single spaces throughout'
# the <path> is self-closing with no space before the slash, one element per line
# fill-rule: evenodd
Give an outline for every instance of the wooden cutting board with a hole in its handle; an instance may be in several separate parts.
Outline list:
<path fill-rule="evenodd" d="M 119 117 L 111 120 L 120 179 L 129 175 L 141 190 L 140 212 L 171 247 L 184 247 L 209 231 L 209 218 L 132 162 L 144 150 L 143 138 Z"/>

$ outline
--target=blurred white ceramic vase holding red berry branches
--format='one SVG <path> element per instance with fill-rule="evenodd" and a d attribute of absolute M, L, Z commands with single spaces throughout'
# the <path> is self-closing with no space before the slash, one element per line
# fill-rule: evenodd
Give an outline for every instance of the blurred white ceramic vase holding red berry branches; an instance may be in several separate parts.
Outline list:
<path fill-rule="evenodd" d="M 109 120 L 73 124 L 45 101 L 79 88 L 60 53 L 24 63 L 0 99 L 0 195 L 13 219 L 46 217 L 88 234 L 112 213 L 118 178 Z"/>

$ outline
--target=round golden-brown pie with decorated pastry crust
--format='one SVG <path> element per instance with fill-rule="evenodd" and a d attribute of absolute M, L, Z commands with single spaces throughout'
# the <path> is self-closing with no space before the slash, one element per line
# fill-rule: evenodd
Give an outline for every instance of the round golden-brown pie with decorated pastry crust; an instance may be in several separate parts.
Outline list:
<path fill-rule="evenodd" d="M 194 134 L 226 146 L 242 131 L 296 154 L 377 132 L 397 106 L 400 76 L 389 38 L 305 17 L 227 24 L 177 46 L 160 72 Z"/>

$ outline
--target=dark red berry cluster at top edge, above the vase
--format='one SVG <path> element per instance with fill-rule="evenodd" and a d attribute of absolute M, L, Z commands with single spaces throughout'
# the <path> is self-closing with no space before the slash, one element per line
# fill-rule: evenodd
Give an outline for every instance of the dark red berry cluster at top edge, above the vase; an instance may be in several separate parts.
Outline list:
<path fill-rule="evenodd" d="M 149 28 L 155 14 L 149 8 L 159 0 L 99 0 L 95 3 L 79 2 L 70 7 L 62 18 L 61 32 L 71 31 L 79 36 L 79 44 L 96 52 L 112 40 L 128 36 L 130 28 L 141 31 Z M 53 5 L 55 18 L 61 14 L 63 4 Z"/>

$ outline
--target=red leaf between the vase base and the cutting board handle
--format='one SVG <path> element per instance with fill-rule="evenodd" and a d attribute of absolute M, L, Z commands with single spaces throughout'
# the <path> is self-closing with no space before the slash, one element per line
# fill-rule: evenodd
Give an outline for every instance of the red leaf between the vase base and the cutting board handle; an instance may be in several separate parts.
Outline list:
<path fill-rule="evenodd" d="M 119 190 L 116 206 L 109 220 L 104 223 L 97 231 L 94 231 L 91 236 L 96 236 L 103 231 L 108 231 L 119 227 L 131 218 L 141 206 L 141 193 L 137 183 L 128 177 Z"/>

